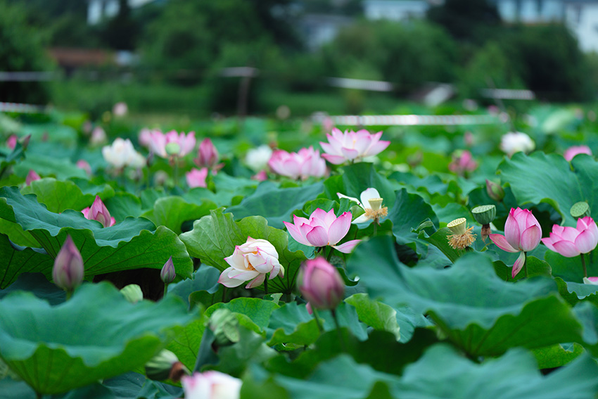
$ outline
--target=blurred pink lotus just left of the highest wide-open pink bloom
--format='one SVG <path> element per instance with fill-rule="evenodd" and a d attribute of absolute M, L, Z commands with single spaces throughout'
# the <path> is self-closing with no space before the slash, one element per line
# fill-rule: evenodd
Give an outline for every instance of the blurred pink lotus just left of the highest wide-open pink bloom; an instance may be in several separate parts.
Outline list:
<path fill-rule="evenodd" d="M 274 173 L 291 179 L 307 179 L 307 177 L 322 177 L 326 173 L 326 161 L 320 158 L 319 151 L 312 146 L 301 148 L 298 153 L 288 153 L 276 150 L 268 161 Z"/>

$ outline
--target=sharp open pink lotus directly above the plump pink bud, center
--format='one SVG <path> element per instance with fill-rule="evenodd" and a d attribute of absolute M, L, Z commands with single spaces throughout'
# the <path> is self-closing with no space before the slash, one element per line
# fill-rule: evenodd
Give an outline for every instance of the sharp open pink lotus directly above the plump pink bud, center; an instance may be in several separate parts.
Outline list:
<path fill-rule="evenodd" d="M 350 212 L 345 212 L 343 215 L 336 217 L 333 209 L 326 212 L 317 208 L 310 215 L 310 220 L 293 215 L 293 224 L 284 222 L 284 225 L 288 230 L 288 234 L 291 234 L 298 243 L 317 247 L 329 245 L 343 253 L 350 253 L 361 240 L 347 241 L 339 246 L 336 244 L 349 232 L 351 219 Z"/>

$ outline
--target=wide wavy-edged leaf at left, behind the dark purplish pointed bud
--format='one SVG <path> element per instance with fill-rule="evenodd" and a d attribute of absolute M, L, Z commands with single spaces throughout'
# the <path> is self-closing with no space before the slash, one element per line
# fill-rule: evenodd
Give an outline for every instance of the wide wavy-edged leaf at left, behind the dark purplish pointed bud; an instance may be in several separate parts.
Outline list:
<path fill-rule="evenodd" d="M 0 218 L 18 223 L 52 257 L 60 251 L 66 236 L 72 236 L 87 276 L 139 268 L 161 269 L 172 255 L 177 275 L 191 277 L 193 262 L 177 234 L 165 227 L 155 229 L 152 222 L 143 218 L 128 218 L 103 228 L 75 210 L 51 213 L 34 195 L 23 196 L 17 187 L 0 188 Z M 1 255 L 4 257 L 4 253 Z"/>

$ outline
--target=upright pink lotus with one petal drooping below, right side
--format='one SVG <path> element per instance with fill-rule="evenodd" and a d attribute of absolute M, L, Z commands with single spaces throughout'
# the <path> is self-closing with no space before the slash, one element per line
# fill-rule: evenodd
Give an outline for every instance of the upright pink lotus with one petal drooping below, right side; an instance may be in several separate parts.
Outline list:
<path fill-rule="evenodd" d="M 504 251 L 519 252 L 519 258 L 513 265 L 511 276 L 515 278 L 526 262 L 526 252 L 532 251 L 540 243 L 542 227 L 528 209 L 511 208 L 504 224 L 504 236 L 490 234 L 490 239 Z"/>

